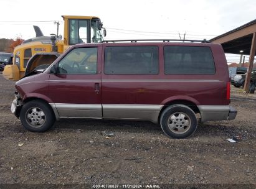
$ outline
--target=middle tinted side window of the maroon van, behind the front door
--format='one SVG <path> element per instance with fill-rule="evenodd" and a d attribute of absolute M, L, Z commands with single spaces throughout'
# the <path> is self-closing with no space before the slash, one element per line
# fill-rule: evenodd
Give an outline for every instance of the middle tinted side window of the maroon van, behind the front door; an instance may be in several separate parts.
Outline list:
<path fill-rule="evenodd" d="M 106 47 L 105 74 L 158 74 L 158 47 Z"/>

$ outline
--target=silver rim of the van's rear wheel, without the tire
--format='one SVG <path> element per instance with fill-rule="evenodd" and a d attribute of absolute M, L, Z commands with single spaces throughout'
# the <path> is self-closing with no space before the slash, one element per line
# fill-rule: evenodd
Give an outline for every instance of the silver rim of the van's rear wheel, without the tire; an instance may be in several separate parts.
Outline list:
<path fill-rule="evenodd" d="M 185 113 L 173 113 L 169 116 L 168 127 L 176 134 L 183 134 L 191 127 L 191 120 Z"/>

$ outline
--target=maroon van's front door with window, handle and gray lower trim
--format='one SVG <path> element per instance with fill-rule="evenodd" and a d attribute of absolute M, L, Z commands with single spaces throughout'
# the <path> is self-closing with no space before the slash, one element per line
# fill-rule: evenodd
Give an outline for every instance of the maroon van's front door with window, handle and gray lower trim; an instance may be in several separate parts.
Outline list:
<path fill-rule="evenodd" d="M 49 77 L 49 96 L 60 118 L 102 118 L 101 53 L 101 45 L 81 46 L 60 58 L 57 74 Z"/>

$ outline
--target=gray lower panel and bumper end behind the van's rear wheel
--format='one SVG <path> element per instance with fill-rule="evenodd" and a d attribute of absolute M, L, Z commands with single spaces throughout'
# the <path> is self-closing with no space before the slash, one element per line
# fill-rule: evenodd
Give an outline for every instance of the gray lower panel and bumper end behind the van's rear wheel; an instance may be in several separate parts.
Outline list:
<path fill-rule="evenodd" d="M 237 116 L 237 111 L 229 105 L 202 105 L 197 107 L 201 113 L 201 122 L 232 120 L 235 119 L 235 116 Z"/>

